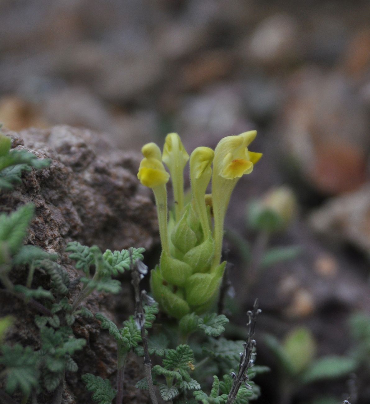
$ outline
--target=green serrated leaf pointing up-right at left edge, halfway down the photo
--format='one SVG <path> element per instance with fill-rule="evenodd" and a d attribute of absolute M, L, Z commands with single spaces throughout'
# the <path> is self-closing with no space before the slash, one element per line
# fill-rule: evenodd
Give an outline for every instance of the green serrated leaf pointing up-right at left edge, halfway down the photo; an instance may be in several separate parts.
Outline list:
<path fill-rule="evenodd" d="M 0 215 L 0 245 L 4 243 L 4 250 L 8 254 L 14 255 L 20 250 L 33 216 L 32 204 L 24 205 L 9 215 Z"/>

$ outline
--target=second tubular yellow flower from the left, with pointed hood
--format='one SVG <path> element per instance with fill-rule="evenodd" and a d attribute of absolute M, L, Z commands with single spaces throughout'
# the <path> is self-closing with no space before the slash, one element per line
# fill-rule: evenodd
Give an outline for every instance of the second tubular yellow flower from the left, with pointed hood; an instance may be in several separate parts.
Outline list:
<path fill-rule="evenodd" d="M 169 133 L 163 147 L 162 160 L 170 170 L 172 177 L 173 197 L 176 221 L 181 219 L 184 208 L 184 177 L 183 171 L 189 154 L 177 133 Z"/>

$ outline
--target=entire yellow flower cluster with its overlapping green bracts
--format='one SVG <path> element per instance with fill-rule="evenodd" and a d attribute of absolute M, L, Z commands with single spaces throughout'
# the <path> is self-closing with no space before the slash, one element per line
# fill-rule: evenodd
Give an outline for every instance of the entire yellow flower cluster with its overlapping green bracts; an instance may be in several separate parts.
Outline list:
<path fill-rule="evenodd" d="M 183 170 L 189 155 L 179 135 L 167 135 L 162 159 L 154 143 L 142 149 L 144 159 L 138 178 L 153 189 L 162 243 L 160 264 L 151 271 L 151 290 L 160 308 L 170 316 L 181 319 L 190 313 L 202 314 L 218 297 L 226 265 L 226 261 L 220 264 L 225 213 L 238 179 L 251 173 L 262 156 L 248 150 L 255 136 L 255 131 L 228 136 L 215 151 L 197 147 L 191 153 L 192 199 L 187 205 L 184 205 Z M 162 162 L 170 171 L 174 197 L 174 213 L 170 213 L 169 220 L 166 191 L 169 175 Z M 209 196 L 206 189 L 211 178 L 212 196 Z"/>

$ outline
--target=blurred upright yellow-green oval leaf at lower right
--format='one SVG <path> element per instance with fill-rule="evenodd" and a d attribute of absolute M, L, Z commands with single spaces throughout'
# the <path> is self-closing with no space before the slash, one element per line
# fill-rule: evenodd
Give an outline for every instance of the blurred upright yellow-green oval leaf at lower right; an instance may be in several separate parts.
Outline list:
<path fill-rule="evenodd" d="M 316 353 L 315 339 L 310 330 L 300 327 L 292 330 L 284 340 L 283 349 L 295 374 L 305 370 Z"/>

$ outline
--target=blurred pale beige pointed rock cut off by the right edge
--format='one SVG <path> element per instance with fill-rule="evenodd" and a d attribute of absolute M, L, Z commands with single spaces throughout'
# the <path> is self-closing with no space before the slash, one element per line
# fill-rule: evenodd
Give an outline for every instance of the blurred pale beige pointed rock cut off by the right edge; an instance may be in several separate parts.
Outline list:
<path fill-rule="evenodd" d="M 313 229 L 335 242 L 370 252 L 370 185 L 328 200 L 310 216 Z"/>

